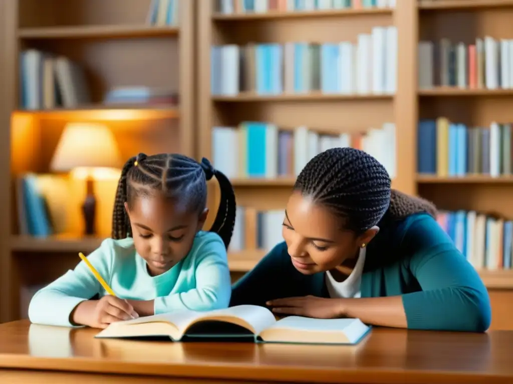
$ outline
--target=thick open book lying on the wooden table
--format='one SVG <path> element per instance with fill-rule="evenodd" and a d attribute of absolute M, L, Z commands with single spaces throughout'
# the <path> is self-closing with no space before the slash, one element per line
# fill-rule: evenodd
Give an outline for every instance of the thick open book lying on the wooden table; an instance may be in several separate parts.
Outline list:
<path fill-rule="evenodd" d="M 316 319 L 288 316 L 275 319 L 265 307 L 240 305 L 205 312 L 177 311 L 110 324 L 96 335 L 112 337 L 169 337 L 242 339 L 257 343 L 357 344 L 370 327 L 359 319 Z"/>

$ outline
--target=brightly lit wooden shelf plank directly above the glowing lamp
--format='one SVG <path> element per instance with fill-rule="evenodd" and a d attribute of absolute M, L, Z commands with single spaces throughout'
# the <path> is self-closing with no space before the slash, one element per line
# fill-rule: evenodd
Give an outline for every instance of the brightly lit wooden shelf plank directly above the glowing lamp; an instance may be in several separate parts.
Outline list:
<path fill-rule="evenodd" d="M 17 110 L 16 114 L 30 114 L 46 119 L 91 119 L 96 120 L 154 120 L 180 117 L 178 106 L 174 105 L 84 105 L 78 109 L 57 108 L 51 110 Z"/>

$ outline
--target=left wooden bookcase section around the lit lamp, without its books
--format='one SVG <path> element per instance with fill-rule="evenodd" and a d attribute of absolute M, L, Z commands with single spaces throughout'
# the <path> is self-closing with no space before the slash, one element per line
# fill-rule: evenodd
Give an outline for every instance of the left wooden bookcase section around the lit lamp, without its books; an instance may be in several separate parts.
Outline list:
<path fill-rule="evenodd" d="M 48 0 L 45 4 L 12 0 L 0 5 L 0 83 L 5 90 L 0 116 L 4 127 L 11 126 L 2 130 L 2 160 L 6 165 L 0 169 L 2 180 L 10 182 L 2 183 L 0 197 L 13 211 L 0 220 L 0 322 L 26 316 L 34 287 L 73 268 L 77 252 L 91 252 L 109 236 L 114 178 L 98 181 L 95 186 L 98 237 L 80 236 L 82 224 L 69 224 L 77 220 L 65 228 L 70 234 L 46 239 L 19 235 L 13 182 L 27 172 L 50 173 L 50 160 L 67 122 L 106 124 L 114 133 L 122 161 L 139 152 L 195 155 L 195 0 L 179 0 L 176 26 L 147 23 L 150 4 L 151 0 Z M 91 102 L 73 108 L 20 108 L 19 54 L 27 49 L 62 55 L 78 63 L 85 70 Z M 178 100 L 105 104 L 106 93 L 115 87 L 165 88 L 176 92 Z M 83 181 L 72 184 L 76 190 L 66 199 L 76 203 L 71 215 L 80 223 Z"/>

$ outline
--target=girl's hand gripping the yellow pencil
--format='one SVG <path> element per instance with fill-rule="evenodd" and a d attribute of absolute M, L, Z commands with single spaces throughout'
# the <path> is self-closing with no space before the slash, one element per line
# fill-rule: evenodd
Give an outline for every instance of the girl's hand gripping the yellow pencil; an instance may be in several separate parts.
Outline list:
<path fill-rule="evenodd" d="M 107 328 L 111 323 L 139 317 L 126 300 L 110 295 L 78 304 L 72 316 L 74 323 L 92 328 Z"/>

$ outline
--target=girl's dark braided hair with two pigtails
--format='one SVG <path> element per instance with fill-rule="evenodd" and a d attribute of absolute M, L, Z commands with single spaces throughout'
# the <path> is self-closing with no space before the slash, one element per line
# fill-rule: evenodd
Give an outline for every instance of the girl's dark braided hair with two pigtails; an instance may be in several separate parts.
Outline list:
<path fill-rule="evenodd" d="M 228 248 L 235 223 L 235 194 L 228 178 L 203 158 L 201 163 L 184 155 L 139 154 L 128 159 L 117 184 L 112 214 L 112 238 L 132 237 L 132 228 L 125 210 L 136 196 L 148 196 L 156 190 L 170 198 L 186 199 L 188 209 L 201 213 L 207 204 L 207 180 L 218 180 L 221 202 L 210 228 L 223 239 Z"/>

